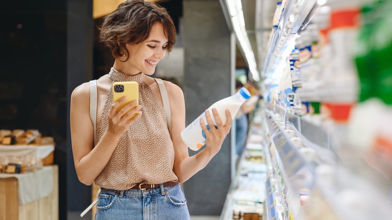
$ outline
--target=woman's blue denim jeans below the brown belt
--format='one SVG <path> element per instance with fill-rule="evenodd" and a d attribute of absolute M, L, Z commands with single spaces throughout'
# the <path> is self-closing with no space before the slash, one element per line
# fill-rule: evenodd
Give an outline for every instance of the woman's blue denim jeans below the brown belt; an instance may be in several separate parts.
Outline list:
<path fill-rule="evenodd" d="M 190 219 L 184 191 L 179 185 L 152 190 L 101 189 L 96 204 L 98 220 Z"/>

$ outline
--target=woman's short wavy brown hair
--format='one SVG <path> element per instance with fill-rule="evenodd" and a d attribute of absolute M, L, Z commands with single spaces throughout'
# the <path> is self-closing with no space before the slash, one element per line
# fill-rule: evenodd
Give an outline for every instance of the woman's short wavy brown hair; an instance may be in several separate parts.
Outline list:
<path fill-rule="evenodd" d="M 126 44 L 139 44 L 150 35 L 156 23 L 163 25 L 165 37 L 168 39 L 166 49 L 171 51 L 175 43 L 176 30 L 173 20 L 165 8 L 143 0 L 128 0 L 104 18 L 100 28 L 100 41 L 104 42 L 115 58 L 127 55 Z"/>

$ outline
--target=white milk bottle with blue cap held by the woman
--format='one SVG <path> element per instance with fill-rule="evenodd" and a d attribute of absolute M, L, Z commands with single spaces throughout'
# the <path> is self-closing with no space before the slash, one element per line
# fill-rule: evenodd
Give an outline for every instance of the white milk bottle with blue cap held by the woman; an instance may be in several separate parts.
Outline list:
<path fill-rule="evenodd" d="M 225 109 L 226 108 L 229 109 L 232 119 L 234 119 L 242 103 L 244 103 L 244 101 L 246 101 L 249 97 L 250 97 L 249 91 L 246 90 L 246 88 L 241 88 L 236 94 L 221 99 L 215 102 L 213 105 L 211 105 L 208 108 L 208 111 L 210 112 L 214 125 L 216 126 L 217 123 L 215 122 L 215 118 L 212 113 L 212 108 L 215 107 L 217 109 L 217 112 L 221 117 L 222 124 L 223 126 L 225 126 L 227 122 Z M 206 115 L 205 113 L 203 113 L 181 132 L 181 138 L 184 141 L 185 145 L 188 146 L 188 148 L 193 151 L 199 150 L 206 144 L 206 135 L 204 134 L 204 131 L 200 126 L 200 121 L 199 121 L 200 118 L 203 118 L 204 123 L 208 125 Z M 207 126 L 207 128 L 209 127 Z"/>

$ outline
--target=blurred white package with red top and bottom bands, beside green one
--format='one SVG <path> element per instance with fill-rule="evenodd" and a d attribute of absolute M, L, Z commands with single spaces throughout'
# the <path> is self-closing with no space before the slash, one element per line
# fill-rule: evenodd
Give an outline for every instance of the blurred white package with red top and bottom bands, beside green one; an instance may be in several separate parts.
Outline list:
<path fill-rule="evenodd" d="M 323 103 L 324 115 L 329 116 L 335 123 L 345 124 L 351 107 L 356 102 L 358 77 L 352 53 L 356 47 L 355 39 L 358 33 L 359 1 L 328 1 L 331 7 L 331 25 L 328 38 L 331 43 L 332 60 L 331 75 L 325 79 L 330 86 L 327 100 Z M 345 136 L 344 132 L 337 135 Z"/>

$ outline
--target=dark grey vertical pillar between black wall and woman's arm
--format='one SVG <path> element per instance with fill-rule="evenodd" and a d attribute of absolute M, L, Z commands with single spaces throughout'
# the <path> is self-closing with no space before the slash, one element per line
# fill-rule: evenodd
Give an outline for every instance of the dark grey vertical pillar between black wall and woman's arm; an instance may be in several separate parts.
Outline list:
<path fill-rule="evenodd" d="M 72 157 L 69 103 L 73 89 L 92 79 L 92 0 L 68 0 L 67 32 L 67 210 L 82 211 L 91 203 L 91 187 L 79 182 Z"/>

